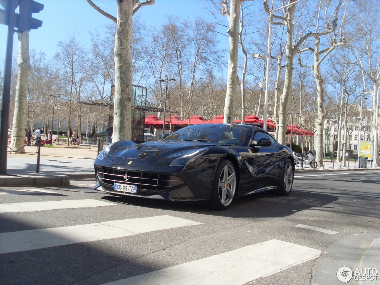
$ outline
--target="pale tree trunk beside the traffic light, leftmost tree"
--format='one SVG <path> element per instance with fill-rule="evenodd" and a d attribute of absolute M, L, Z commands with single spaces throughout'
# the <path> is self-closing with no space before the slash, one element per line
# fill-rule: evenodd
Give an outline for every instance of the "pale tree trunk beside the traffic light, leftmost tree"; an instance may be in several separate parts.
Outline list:
<path fill-rule="evenodd" d="M 28 82 L 30 74 L 30 58 L 29 58 L 29 31 L 17 33 L 19 37 L 19 55 L 17 57 L 17 65 L 19 72 L 17 76 L 16 98 L 14 102 L 13 128 L 11 149 L 25 153 L 25 123 L 27 112 L 27 95 Z"/>

